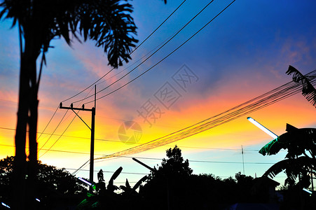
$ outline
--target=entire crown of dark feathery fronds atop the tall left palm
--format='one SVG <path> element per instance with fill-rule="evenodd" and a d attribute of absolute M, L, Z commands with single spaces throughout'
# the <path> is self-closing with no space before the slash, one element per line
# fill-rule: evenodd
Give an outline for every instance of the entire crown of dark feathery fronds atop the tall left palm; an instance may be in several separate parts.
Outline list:
<path fill-rule="evenodd" d="M 137 35 L 130 16 L 132 5 L 121 0 L 4 0 L 0 3 L 0 19 L 19 22 L 24 35 L 36 40 L 37 49 L 47 52 L 53 38 L 64 38 L 71 45 L 73 38 L 95 41 L 107 53 L 114 67 L 128 62 Z"/>

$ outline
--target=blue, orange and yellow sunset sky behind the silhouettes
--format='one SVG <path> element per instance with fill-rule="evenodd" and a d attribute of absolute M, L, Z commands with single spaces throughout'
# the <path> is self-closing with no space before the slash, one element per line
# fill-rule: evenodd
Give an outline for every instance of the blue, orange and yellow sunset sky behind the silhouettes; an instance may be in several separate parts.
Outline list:
<path fill-rule="evenodd" d="M 139 43 L 181 2 L 168 1 L 165 5 L 158 0 L 130 1 L 135 8 L 132 17 L 138 27 L 136 38 Z M 97 100 L 96 106 L 95 158 L 158 139 L 284 85 L 291 81 L 291 76 L 285 73 L 289 65 L 303 74 L 316 69 L 315 1 L 237 0 L 193 36 L 231 3 L 214 1 L 135 71 L 103 90 L 155 52 L 207 3 L 209 1 L 186 1 L 155 34 L 132 53 L 132 60 L 128 64 L 114 69 L 97 82 L 97 91 L 102 90 L 97 93 L 97 98 L 102 99 Z M 20 54 L 18 30 L 17 27 L 11 29 L 11 24 L 12 20 L 0 22 L 1 159 L 15 154 Z M 165 58 L 191 36 L 193 38 Z M 74 41 L 69 47 L 63 39 L 55 39 L 51 45 L 54 48 L 50 48 L 46 55 L 47 66 L 43 69 L 39 88 L 38 137 L 48 125 L 38 139 L 39 148 L 45 144 L 39 151 L 39 160 L 64 167 L 72 173 L 90 158 L 90 130 L 79 118 L 74 118 L 76 115 L 72 111 L 66 113 L 66 110 L 57 107 L 60 102 L 104 76 L 111 67 L 108 66 L 107 55 L 104 55 L 102 48 L 95 47 L 90 41 Z M 150 71 L 137 80 L 103 97 L 152 66 Z M 192 79 L 186 83 L 186 87 L 174 80 L 184 70 L 190 73 Z M 174 95 L 167 104 L 163 104 L 159 101 L 159 92 L 166 87 L 172 87 Z M 63 102 L 63 106 L 85 99 L 94 91 L 92 85 L 78 96 Z M 85 108 L 92 108 L 93 103 L 88 103 L 92 100 L 93 97 L 89 97 L 83 101 Z M 83 103 L 74 103 L 74 107 L 81 107 Z M 155 114 L 156 121 L 153 118 L 147 118 L 146 121 L 139 114 L 144 113 L 149 104 L 155 107 L 153 110 L 156 112 L 152 114 Z M 56 109 L 53 120 L 48 124 Z M 81 111 L 78 115 L 90 126 L 90 112 Z M 254 111 L 249 116 L 278 135 L 285 132 L 287 123 L 298 128 L 316 127 L 315 107 L 301 94 Z M 96 160 L 95 170 L 106 172 L 104 179 L 108 181 L 118 167 L 123 167 L 117 185 L 125 179 L 133 183 L 148 174 L 149 170 L 130 157 L 139 158 L 153 167 L 160 165 L 162 158 L 165 158 L 165 151 L 177 144 L 183 157 L 189 160 L 194 174 L 214 174 L 224 179 L 245 171 L 246 175 L 261 176 L 273 163 L 283 160 L 286 153 L 283 151 L 273 156 L 259 154 L 259 149 L 272 138 L 249 123 L 247 117 L 242 116 L 143 153 Z M 136 122 L 142 130 L 139 132 L 141 137 L 134 143 L 123 142 L 118 136 L 121 125 L 129 121 Z M 131 130 L 127 133 L 128 136 L 132 134 Z M 50 151 L 46 153 L 49 148 Z M 241 148 L 244 149 L 243 157 Z M 84 167 L 76 176 L 88 178 L 88 169 L 89 166 Z M 281 173 L 275 180 L 283 184 L 284 176 Z"/>

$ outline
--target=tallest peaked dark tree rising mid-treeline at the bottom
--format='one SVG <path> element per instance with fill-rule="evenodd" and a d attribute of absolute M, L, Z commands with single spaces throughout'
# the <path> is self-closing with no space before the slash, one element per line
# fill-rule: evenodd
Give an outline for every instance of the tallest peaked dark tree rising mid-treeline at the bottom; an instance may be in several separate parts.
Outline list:
<path fill-rule="evenodd" d="M 145 197 L 146 206 L 151 209 L 186 209 L 189 177 L 193 170 L 188 160 L 184 160 L 177 146 L 166 151 L 161 166 L 149 174 L 147 183 L 139 193 Z M 186 200 L 188 202 L 188 200 Z M 153 205 L 153 203 L 155 205 Z"/>

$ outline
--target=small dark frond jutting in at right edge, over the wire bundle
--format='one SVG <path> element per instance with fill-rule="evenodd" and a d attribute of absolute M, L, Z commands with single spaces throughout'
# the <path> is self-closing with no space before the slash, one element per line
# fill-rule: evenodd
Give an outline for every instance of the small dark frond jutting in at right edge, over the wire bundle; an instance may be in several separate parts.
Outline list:
<path fill-rule="evenodd" d="M 312 106 L 316 108 L 316 89 L 310 83 L 310 80 L 303 76 L 301 72 L 295 69 L 293 66 L 289 66 L 289 69 L 286 72 L 288 75 L 293 73 L 293 81 L 296 83 L 301 82 L 303 85 L 302 94 L 308 100 L 308 102 L 312 103 Z"/>

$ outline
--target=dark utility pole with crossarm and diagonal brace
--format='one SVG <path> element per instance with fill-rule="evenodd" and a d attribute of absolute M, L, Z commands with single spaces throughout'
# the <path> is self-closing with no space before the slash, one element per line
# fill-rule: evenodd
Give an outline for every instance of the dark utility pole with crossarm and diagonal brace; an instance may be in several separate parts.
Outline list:
<path fill-rule="evenodd" d="M 95 85 L 95 106 L 96 106 L 96 101 L 97 101 L 96 97 L 97 97 L 97 85 Z M 83 104 L 81 108 L 74 108 L 72 104 L 70 105 L 70 107 L 66 107 L 66 106 L 62 106 L 62 103 L 60 103 L 60 109 L 71 109 L 72 111 L 74 111 L 74 110 L 91 111 L 91 115 L 92 115 L 91 116 L 91 127 L 89 127 L 89 125 L 87 123 L 85 123 L 85 121 L 80 116 L 78 116 L 76 111 L 74 111 L 74 113 L 91 130 L 90 177 L 89 177 L 89 179 L 90 179 L 90 182 L 93 183 L 93 169 L 94 169 L 94 159 L 95 159 L 94 158 L 94 156 L 95 156 L 95 107 L 92 107 L 92 109 L 85 109 L 85 106 Z M 92 193 L 92 186 L 89 187 L 89 192 Z"/>

